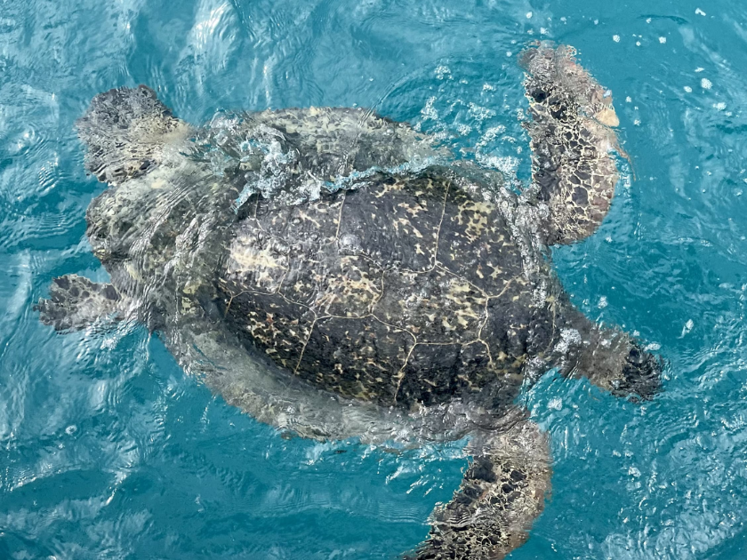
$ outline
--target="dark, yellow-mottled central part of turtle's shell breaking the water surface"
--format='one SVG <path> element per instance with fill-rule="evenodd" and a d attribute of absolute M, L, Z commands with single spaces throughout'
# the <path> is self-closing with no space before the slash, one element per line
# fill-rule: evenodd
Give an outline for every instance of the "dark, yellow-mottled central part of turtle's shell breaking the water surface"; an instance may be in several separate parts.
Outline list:
<path fill-rule="evenodd" d="M 534 302 L 510 220 L 480 192 L 429 168 L 306 204 L 254 197 L 221 265 L 225 320 L 344 396 L 411 406 L 483 392 L 509 403 L 552 319 Z"/>

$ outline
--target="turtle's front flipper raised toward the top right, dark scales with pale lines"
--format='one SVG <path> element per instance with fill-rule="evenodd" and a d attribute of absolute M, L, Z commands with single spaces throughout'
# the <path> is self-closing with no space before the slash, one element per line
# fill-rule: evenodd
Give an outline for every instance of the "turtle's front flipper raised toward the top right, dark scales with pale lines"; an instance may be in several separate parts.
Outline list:
<path fill-rule="evenodd" d="M 574 60 L 574 49 L 539 44 L 522 57 L 532 122 L 530 202 L 545 206 L 548 244 L 590 236 L 604 220 L 618 174 L 612 95 Z"/>

